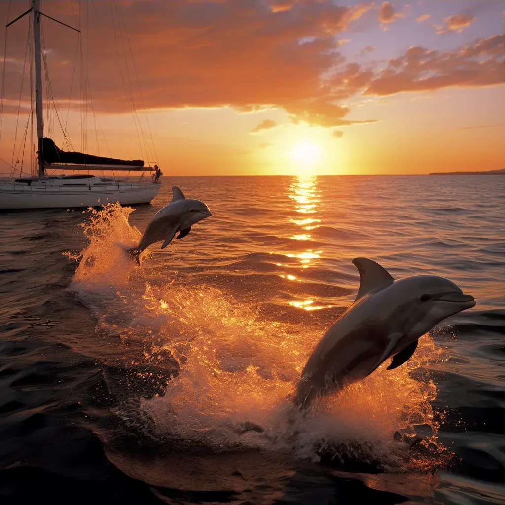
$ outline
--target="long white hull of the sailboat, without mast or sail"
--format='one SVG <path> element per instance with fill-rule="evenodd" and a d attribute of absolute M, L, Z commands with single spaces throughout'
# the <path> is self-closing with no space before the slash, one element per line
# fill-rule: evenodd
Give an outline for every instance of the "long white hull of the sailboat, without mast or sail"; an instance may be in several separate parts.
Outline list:
<path fill-rule="evenodd" d="M 0 209 L 69 209 L 97 207 L 119 201 L 121 205 L 148 204 L 160 184 L 109 185 L 0 184 Z"/>

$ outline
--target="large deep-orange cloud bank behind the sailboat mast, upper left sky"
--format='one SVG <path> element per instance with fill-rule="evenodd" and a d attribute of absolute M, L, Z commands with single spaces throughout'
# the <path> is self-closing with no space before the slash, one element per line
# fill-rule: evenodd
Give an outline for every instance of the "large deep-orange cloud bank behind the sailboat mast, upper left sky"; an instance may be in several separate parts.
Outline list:
<path fill-rule="evenodd" d="M 68 7 L 63 0 L 47 3 L 46 9 L 52 9 L 47 14 L 75 24 L 72 11 L 60 12 L 59 5 Z M 114 3 L 112 10 L 102 2 L 82 9 L 81 19 L 90 19 L 83 42 L 95 112 L 128 112 L 132 104 L 147 109 L 231 106 L 239 111 L 271 106 L 283 108 L 294 121 L 352 123 L 344 119 L 348 109 L 335 104 L 342 90 L 335 94 L 332 87 L 321 86 L 321 75 L 344 62 L 335 36 L 369 7 L 339 7 L 329 0 L 131 0 Z M 66 105 L 77 38 L 50 20 L 42 22 L 55 98 Z M 19 38 L 21 58 L 24 44 Z M 8 66 L 8 98 L 19 95 L 18 76 L 19 70 Z M 354 91 L 348 87 L 346 92 Z M 73 93 L 80 107 L 82 93 L 75 83 Z"/>

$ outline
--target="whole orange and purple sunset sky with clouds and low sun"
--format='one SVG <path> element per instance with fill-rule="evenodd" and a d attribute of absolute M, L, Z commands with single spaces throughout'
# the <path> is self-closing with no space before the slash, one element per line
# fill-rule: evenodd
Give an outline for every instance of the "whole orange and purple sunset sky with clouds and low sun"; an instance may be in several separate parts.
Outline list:
<path fill-rule="evenodd" d="M 28 7 L 2 1 L 2 26 Z M 41 11 L 82 30 L 42 20 L 45 134 L 65 150 L 59 122 L 75 150 L 157 158 L 165 175 L 505 167 L 501 0 L 42 0 Z M 28 17 L 7 31 L 0 157 L 12 163 Z M 27 60 L 14 159 L 29 103 Z"/>

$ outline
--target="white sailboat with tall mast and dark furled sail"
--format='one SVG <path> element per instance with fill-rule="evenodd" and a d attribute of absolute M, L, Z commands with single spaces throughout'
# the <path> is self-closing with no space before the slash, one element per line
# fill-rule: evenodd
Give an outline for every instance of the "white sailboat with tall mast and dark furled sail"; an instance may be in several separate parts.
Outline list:
<path fill-rule="evenodd" d="M 148 204 L 160 190 L 160 170 L 145 166 L 142 160 L 121 160 L 100 156 L 63 151 L 49 137 L 44 137 L 41 68 L 41 17 L 76 28 L 47 16 L 40 11 L 40 0 L 31 0 L 31 7 L 25 13 L 7 24 L 12 25 L 26 15 L 32 18 L 35 67 L 35 104 L 37 118 L 37 160 L 38 174 L 31 177 L 11 178 L 0 183 L 0 209 L 47 209 L 96 207 L 119 201 L 122 205 Z M 4 65 L 6 63 L 4 62 Z M 15 168 L 15 167 L 12 167 Z M 54 171 L 83 171 L 75 175 L 48 175 Z M 143 173 L 155 172 L 151 180 L 128 182 L 105 175 L 92 175 L 90 171 L 105 174 L 110 171 Z M 156 175 L 156 177 L 154 177 Z"/>

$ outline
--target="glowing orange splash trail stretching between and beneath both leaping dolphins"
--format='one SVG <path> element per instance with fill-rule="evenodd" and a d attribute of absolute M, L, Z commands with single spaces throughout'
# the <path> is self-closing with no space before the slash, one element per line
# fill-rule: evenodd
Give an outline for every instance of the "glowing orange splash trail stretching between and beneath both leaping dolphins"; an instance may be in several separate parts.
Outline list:
<path fill-rule="evenodd" d="M 411 457 L 398 441 L 423 429 L 429 432 L 424 447 L 442 448 L 430 404 L 437 390 L 426 372 L 441 351 L 429 335 L 407 366 L 386 371 L 383 364 L 309 415 L 296 412 L 291 397 L 324 328 L 262 320 L 260 307 L 238 302 L 201 277 L 183 283 L 168 266 L 150 276 L 125 254 L 140 236 L 128 224 L 131 212 L 119 204 L 90 212 L 84 226 L 90 243 L 71 289 L 94 309 L 100 332 L 121 337 L 125 361 L 149 363 L 154 375 L 167 367 L 177 371 L 164 393 L 140 401 L 142 416 L 155 422 L 161 438 L 213 451 L 264 448 L 314 461 L 323 453 L 337 459 L 350 453 L 394 470 L 441 462 L 439 456 Z"/>

